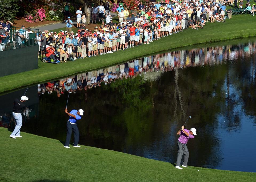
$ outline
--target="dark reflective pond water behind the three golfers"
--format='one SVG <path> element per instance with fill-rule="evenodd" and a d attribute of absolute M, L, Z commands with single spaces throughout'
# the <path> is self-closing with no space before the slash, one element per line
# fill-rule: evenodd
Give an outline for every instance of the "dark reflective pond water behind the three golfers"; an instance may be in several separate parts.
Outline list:
<path fill-rule="evenodd" d="M 175 163 L 176 133 L 190 115 L 188 165 L 256 172 L 255 45 L 163 53 L 32 86 L 22 131 L 65 141 L 69 90 L 68 110 L 85 111 L 79 144 Z M 24 92 L 0 97 L 0 126 L 15 127 L 12 101 Z"/>

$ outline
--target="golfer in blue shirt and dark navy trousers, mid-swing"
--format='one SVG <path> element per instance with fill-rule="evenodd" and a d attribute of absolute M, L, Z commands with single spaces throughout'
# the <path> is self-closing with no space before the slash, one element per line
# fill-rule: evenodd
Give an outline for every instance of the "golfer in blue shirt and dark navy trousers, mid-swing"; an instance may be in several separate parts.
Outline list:
<path fill-rule="evenodd" d="M 69 120 L 67 121 L 67 138 L 64 147 L 70 149 L 69 143 L 72 131 L 74 132 L 74 145 L 73 147 L 81 147 L 78 145 L 79 141 L 79 130 L 77 127 L 77 120 L 81 119 L 81 116 L 83 116 L 83 110 L 79 109 L 72 110 L 71 112 L 67 112 L 67 108 L 65 109 L 65 113 L 69 115 Z"/>

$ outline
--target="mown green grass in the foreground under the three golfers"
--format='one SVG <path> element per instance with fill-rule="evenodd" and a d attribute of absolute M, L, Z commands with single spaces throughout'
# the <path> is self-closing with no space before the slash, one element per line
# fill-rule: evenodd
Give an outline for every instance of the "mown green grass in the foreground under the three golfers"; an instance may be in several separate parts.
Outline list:
<path fill-rule="evenodd" d="M 0 127 L 0 181 L 254 181 L 256 174 L 190 167 L 89 146 L 70 149 L 54 139 Z M 87 148 L 87 150 L 85 150 Z M 197 171 L 199 170 L 199 171 Z"/>

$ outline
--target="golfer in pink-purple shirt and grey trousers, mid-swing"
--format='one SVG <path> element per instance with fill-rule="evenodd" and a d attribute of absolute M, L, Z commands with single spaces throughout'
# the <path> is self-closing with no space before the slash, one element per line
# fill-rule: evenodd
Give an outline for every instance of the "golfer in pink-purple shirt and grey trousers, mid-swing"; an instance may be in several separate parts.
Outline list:
<path fill-rule="evenodd" d="M 177 135 L 179 136 L 177 146 L 178 146 L 178 157 L 176 162 L 176 168 L 181 168 L 181 158 L 184 154 L 184 162 L 182 164 L 182 167 L 187 167 L 187 161 L 189 160 L 189 151 L 187 150 L 187 141 L 189 141 L 190 138 L 194 138 L 195 135 L 197 135 L 197 130 L 195 128 L 191 128 L 190 130 L 187 130 L 184 128 L 184 126 L 181 127 L 181 129 L 177 132 Z"/>

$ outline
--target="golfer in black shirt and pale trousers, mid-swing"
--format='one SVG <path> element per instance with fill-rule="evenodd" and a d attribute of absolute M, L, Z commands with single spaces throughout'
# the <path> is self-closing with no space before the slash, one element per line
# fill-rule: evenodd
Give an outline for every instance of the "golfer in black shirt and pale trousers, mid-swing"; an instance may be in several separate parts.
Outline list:
<path fill-rule="evenodd" d="M 16 120 L 16 126 L 14 128 L 13 133 L 11 133 L 10 138 L 16 139 L 16 137 L 21 138 L 20 135 L 21 132 L 21 126 L 22 126 L 22 117 L 21 117 L 21 110 L 26 106 L 25 101 L 27 101 L 29 98 L 26 96 L 22 96 L 21 99 L 15 99 L 13 104 L 13 117 Z"/>

